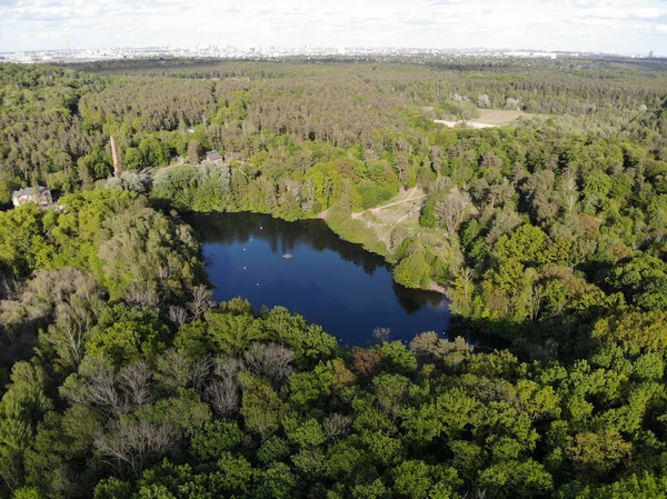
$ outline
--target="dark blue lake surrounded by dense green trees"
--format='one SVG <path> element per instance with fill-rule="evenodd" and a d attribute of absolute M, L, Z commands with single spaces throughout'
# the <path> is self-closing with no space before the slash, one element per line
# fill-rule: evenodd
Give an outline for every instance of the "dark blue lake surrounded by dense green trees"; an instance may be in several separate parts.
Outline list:
<path fill-rule="evenodd" d="M 449 325 L 441 295 L 395 283 L 381 257 L 341 240 L 321 220 L 196 213 L 188 221 L 202 239 L 217 301 L 241 297 L 256 310 L 282 306 L 350 346 L 369 345 L 376 328 L 409 342 Z"/>

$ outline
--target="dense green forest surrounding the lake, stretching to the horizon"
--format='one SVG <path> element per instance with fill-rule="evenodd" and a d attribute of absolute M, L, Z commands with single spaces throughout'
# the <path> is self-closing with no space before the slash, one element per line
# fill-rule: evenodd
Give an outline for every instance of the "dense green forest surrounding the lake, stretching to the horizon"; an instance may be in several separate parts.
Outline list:
<path fill-rule="evenodd" d="M 0 64 L 0 497 L 667 498 L 665 61 Z M 322 218 L 448 337 L 215 302 L 192 211 Z"/>

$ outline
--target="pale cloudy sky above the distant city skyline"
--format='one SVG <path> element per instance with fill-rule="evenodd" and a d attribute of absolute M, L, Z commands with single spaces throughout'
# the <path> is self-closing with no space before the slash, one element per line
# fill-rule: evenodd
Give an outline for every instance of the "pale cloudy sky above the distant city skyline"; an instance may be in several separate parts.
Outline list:
<path fill-rule="evenodd" d="M 667 0 L 0 0 L 0 52 L 419 47 L 667 57 Z"/>

